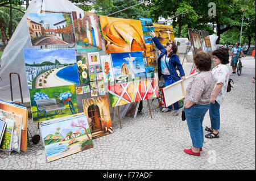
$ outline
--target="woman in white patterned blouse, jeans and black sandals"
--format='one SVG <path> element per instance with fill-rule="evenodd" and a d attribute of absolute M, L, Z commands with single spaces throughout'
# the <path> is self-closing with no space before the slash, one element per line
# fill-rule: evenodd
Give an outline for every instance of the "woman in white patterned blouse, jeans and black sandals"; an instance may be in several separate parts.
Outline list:
<path fill-rule="evenodd" d="M 212 92 L 210 100 L 210 124 L 211 127 L 205 128 L 205 131 L 210 132 L 205 135 L 205 138 L 218 138 L 218 130 L 220 129 L 220 105 L 226 96 L 226 90 L 229 82 L 229 69 L 226 64 L 229 63 L 229 52 L 226 49 L 219 48 L 212 52 L 213 62 L 216 65 L 212 69 L 212 74 L 217 79 L 216 85 Z"/>

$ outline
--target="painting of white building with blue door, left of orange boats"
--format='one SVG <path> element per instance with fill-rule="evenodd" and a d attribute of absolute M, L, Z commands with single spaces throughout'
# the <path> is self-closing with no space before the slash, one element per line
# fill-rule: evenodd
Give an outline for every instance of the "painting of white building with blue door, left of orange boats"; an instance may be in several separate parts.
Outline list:
<path fill-rule="evenodd" d="M 98 16 L 93 12 L 72 11 L 77 41 L 77 52 L 102 50 Z"/>

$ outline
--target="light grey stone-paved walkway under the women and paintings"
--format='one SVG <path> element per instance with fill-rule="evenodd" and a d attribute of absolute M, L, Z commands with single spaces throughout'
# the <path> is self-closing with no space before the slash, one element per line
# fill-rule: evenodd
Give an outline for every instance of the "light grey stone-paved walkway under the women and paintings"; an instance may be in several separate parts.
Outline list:
<path fill-rule="evenodd" d="M 220 138 L 205 140 L 201 157 L 185 154 L 190 148 L 186 121 L 173 112 L 152 112 L 153 119 L 143 103 L 142 113 L 136 119 L 125 117 L 123 128 L 113 124 L 114 133 L 93 140 L 94 148 L 46 162 L 42 140 L 28 146 L 26 153 L 11 153 L 0 158 L 1 169 L 255 169 L 255 59 L 243 58 L 242 75 L 231 75 L 234 88 L 221 106 Z M 191 65 L 184 62 L 185 73 Z M 229 66 L 231 71 L 231 67 Z M 158 106 L 155 100 L 152 105 Z M 181 110 L 180 110 L 181 112 Z M 210 126 L 209 112 L 205 126 Z M 32 134 L 40 134 L 37 124 L 29 120 Z M 207 132 L 205 132 L 207 133 Z"/>

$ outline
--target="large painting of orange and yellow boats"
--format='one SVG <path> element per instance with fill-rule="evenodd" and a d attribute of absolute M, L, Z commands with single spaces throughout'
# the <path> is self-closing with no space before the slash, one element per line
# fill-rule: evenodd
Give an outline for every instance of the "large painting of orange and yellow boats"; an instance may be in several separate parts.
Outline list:
<path fill-rule="evenodd" d="M 100 16 L 106 54 L 146 50 L 140 20 Z"/>

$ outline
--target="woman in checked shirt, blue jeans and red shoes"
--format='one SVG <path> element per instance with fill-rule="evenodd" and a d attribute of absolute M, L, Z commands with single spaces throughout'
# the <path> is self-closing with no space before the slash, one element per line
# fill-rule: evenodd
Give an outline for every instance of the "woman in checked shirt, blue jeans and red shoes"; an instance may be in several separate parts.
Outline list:
<path fill-rule="evenodd" d="M 193 146 L 191 149 L 184 149 L 184 152 L 200 156 L 204 142 L 203 120 L 209 109 L 210 95 L 216 79 L 212 75 L 209 54 L 199 51 L 193 57 L 193 61 L 199 74 L 189 82 L 184 101 L 185 118 Z"/>

